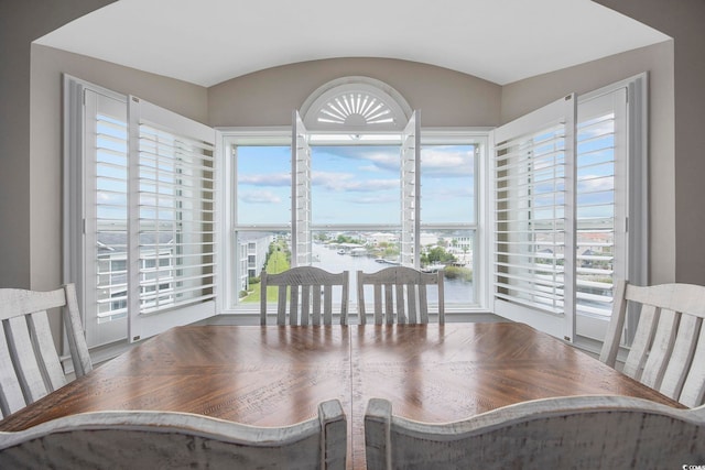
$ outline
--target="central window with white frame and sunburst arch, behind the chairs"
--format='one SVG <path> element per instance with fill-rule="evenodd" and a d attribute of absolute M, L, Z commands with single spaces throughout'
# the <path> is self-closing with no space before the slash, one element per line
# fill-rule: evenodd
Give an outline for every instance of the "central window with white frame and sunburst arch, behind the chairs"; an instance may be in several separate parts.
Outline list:
<path fill-rule="evenodd" d="M 367 77 L 325 84 L 302 114 L 294 113 L 291 133 L 223 131 L 225 179 L 232 182 L 228 250 L 241 252 L 254 239 L 263 253 L 254 263 L 251 249 L 230 261 L 224 276 L 238 280 L 238 293 L 225 308 L 259 302 L 258 280 L 245 266 L 259 276 L 308 264 L 352 273 L 443 267 L 446 308 L 477 306 L 475 175 L 486 133 L 433 131 L 422 140 L 403 97 Z"/>

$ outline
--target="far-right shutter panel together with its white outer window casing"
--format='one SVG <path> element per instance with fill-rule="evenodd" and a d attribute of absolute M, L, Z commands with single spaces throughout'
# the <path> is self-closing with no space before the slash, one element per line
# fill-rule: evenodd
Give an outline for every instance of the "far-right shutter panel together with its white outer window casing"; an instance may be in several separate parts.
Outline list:
<path fill-rule="evenodd" d="M 605 338 L 617 278 L 648 284 L 647 75 L 581 97 L 577 122 L 577 334 Z M 633 336 L 629 311 L 626 343 Z"/>

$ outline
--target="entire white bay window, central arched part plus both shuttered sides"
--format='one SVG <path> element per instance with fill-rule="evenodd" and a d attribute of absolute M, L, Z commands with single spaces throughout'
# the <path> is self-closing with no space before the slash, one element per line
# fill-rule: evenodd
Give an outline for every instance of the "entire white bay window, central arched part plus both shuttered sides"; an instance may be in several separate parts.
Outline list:
<path fill-rule="evenodd" d="M 257 309 L 263 269 L 443 269 L 449 313 L 570 340 L 601 340 L 616 277 L 646 282 L 646 76 L 503 125 L 491 152 L 489 132 L 422 129 L 364 77 L 323 86 L 291 128 L 224 131 L 219 153 L 213 129 L 65 87 L 65 280 L 91 347 L 206 318 L 216 299 Z"/>

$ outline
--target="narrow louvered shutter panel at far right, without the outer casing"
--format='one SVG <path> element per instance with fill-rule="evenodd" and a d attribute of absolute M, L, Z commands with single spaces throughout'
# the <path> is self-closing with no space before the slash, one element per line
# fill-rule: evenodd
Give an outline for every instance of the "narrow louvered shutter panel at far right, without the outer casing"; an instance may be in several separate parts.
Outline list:
<path fill-rule="evenodd" d="M 627 89 L 581 101 L 577 123 L 576 308 L 609 316 L 615 277 L 626 278 Z"/>

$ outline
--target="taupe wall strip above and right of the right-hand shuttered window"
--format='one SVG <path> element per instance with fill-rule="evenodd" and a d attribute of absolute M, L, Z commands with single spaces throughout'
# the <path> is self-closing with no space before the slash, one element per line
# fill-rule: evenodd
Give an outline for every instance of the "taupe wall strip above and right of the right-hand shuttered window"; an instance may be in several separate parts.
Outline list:
<path fill-rule="evenodd" d="M 508 122 L 572 91 L 579 95 L 642 72 L 649 73 L 649 280 L 673 282 L 676 266 L 672 41 L 507 85 L 502 88 L 501 121 Z"/>

